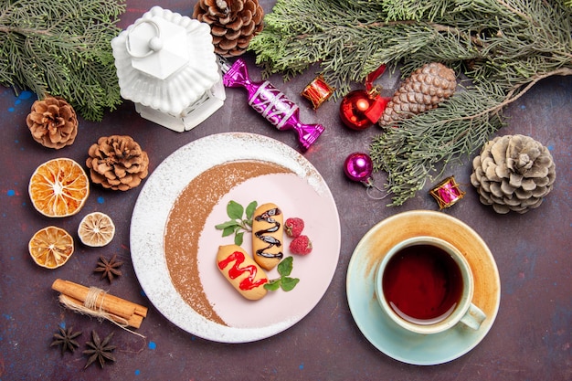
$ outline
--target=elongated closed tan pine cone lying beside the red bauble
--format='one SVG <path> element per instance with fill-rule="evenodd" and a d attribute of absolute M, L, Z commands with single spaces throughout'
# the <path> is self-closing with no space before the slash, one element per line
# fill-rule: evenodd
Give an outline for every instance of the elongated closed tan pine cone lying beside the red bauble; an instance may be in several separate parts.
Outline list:
<path fill-rule="evenodd" d="M 418 113 L 435 109 L 455 92 L 455 72 L 439 62 L 431 62 L 415 70 L 405 79 L 387 103 L 379 119 L 387 126 L 408 119 Z"/>

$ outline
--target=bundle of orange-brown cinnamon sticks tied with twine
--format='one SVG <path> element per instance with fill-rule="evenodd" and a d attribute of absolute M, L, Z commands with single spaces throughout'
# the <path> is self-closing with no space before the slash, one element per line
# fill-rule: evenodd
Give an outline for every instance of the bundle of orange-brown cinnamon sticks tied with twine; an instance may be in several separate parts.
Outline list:
<path fill-rule="evenodd" d="M 141 326 L 143 318 L 147 316 L 146 307 L 125 301 L 97 287 L 88 288 L 69 280 L 55 280 L 52 289 L 61 292 L 59 302 L 70 310 L 109 320 L 126 331 L 144 337 L 127 327 Z"/>

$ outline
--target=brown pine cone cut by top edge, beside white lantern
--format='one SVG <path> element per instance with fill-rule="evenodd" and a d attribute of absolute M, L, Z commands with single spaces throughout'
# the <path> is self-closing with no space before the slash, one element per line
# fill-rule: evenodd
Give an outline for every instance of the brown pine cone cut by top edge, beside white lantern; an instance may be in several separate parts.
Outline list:
<path fill-rule="evenodd" d="M 215 52 L 228 58 L 246 51 L 262 30 L 264 11 L 258 0 L 199 0 L 193 17 L 210 25 Z"/>

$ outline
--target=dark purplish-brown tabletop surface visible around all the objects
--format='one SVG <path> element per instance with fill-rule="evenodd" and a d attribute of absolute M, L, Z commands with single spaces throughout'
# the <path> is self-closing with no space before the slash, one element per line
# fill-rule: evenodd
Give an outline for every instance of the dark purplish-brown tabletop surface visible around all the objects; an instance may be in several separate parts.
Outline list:
<path fill-rule="evenodd" d="M 162 6 L 185 16 L 192 15 L 194 1 L 164 1 Z M 270 13 L 273 1 L 261 1 Z M 127 1 L 120 26 L 131 25 L 156 3 Z M 245 56 L 253 79 L 260 70 L 253 57 Z M 524 215 L 497 215 L 483 206 L 470 185 L 471 158 L 446 175 L 455 175 L 466 196 L 443 213 L 458 217 L 476 230 L 492 250 L 502 282 L 501 307 L 493 328 L 467 355 L 444 365 L 406 365 L 387 357 L 365 340 L 354 323 L 345 295 L 345 273 L 355 245 L 382 219 L 412 209 L 438 210 L 429 188 L 440 179 L 428 179 L 425 189 L 404 206 L 387 207 L 370 199 L 365 187 L 349 181 L 343 163 L 349 153 L 367 151 L 377 127 L 365 132 L 345 128 L 338 118 L 339 101 L 328 101 L 313 111 L 300 96 L 315 71 L 284 83 L 270 80 L 301 106 L 302 122 L 321 122 L 326 132 L 304 156 L 330 186 L 339 210 L 342 248 L 337 272 L 323 300 L 300 323 L 287 331 L 250 344 L 218 344 L 185 333 L 154 310 L 142 294 L 132 270 L 129 227 L 132 208 L 141 186 L 114 192 L 91 186 L 90 198 L 73 217 L 42 217 L 27 195 L 30 175 L 38 164 L 66 156 L 85 163 L 88 148 L 101 136 L 131 135 L 149 154 L 150 169 L 177 148 L 215 132 L 255 132 L 297 147 L 293 132 L 279 132 L 252 111 L 246 92 L 228 89 L 225 106 L 190 132 L 172 132 L 143 120 L 131 101 L 108 112 L 102 122 L 79 122 L 73 145 L 55 151 L 34 142 L 26 127 L 26 115 L 34 97 L 16 97 L 0 89 L 2 127 L 0 136 L 0 379 L 1 380 L 569 380 L 572 379 L 572 217 L 570 206 L 570 127 L 572 79 L 545 79 L 511 104 L 505 115 L 508 126 L 497 134 L 521 133 L 545 144 L 556 161 L 556 185 L 539 208 Z M 382 79 L 388 89 L 396 78 Z M 358 86 L 358 85 L 356 85 Z M 189 165 L 192 165 L 189 164 Z M 385 181 L 375 174 L 376 182 Z M 115 221 L 111 244 L 90 249 L 79 244 L 75 233 L 79 220 L 101 211 Z M 40 228 L 66 228 L 78 242 L 69 262 L 57 270 L 39 268 L 27 252 L 29 238 Z M 92 270 L 101 255 L 122 259 L 123 275 L 108 285 Z M 51 291 L 61 278 L 104 288 L 111 294 L 150 307 L 139 333 L 127 333 L 111 323 L 69 312 Z M 79 349 L 63 357 L 49 346 L 59 325 L 82 331 Z M 104 369 L 91 365 L 83 370 L 81 355 L 91 330 L 101 335 L 114 332 L 117 361 Z"/>

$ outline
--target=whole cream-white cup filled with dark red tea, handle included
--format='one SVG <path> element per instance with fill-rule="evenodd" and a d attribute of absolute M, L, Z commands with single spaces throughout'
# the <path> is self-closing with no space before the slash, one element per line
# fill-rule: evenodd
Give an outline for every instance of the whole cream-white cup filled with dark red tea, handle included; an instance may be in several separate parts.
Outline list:
<path fill-rule="evenodd" d="M 387 316 L 414 333 L 440 333 L 461 323 L 478 330 L 486 319 L 474 305 L 467 259 L 435 237 L 400 241 L 376 272 L 376 296 Z"/>

